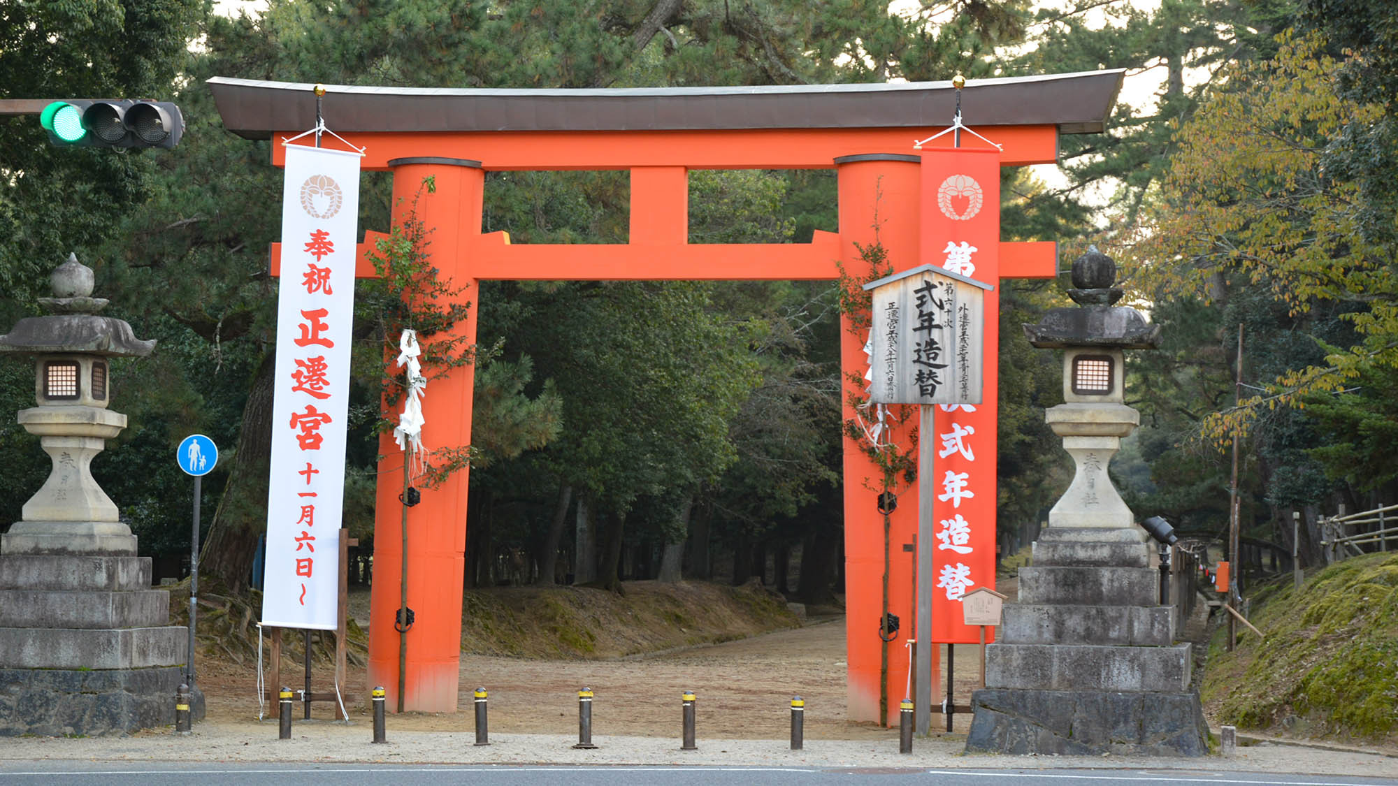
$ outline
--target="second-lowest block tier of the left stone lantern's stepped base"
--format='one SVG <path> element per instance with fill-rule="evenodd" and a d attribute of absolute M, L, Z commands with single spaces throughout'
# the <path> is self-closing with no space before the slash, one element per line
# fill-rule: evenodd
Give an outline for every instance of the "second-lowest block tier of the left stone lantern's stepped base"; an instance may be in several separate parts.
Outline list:
<path fill-rule="evenodd" d="M 189 628 L 0 628 L 0 669 L 182 666 Z"/>

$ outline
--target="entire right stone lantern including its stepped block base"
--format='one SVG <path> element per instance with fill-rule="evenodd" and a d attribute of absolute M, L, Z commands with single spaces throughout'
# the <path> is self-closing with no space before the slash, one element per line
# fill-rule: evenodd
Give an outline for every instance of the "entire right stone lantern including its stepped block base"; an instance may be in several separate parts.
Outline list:
<path fill-rule="evenodd" d="M 1025 326 L 1030 343 L 1064 350 L 1064 404 L 1046 421 L 1076 466 L 1019 569 L 998 642 L 986 648 L 986 688 L 972 696 L 967 751 L 1204 755 L 1208 727 L 1190 685 L 1188 643 L 1174 643 L 1174 607 L 1159 603 L 1149 536 L 1107 476 L 1139 424 L 1124 401 L 1123 350 L 1155 348 L 1159 327 L 1113 306 L 1116 264 L 1089 252 L 1069 295 L 1082 308 Z"/>

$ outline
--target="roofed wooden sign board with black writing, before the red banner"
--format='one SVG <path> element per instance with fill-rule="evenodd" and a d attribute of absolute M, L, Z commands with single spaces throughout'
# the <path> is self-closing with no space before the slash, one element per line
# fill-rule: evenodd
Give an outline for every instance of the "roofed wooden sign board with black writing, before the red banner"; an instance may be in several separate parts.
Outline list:
<path fill-rule="evenodd" d="M 986 290 L 923 264 L 864 285 L 874 292 L 870 399 L 878 404 L 980 404 Z"/>

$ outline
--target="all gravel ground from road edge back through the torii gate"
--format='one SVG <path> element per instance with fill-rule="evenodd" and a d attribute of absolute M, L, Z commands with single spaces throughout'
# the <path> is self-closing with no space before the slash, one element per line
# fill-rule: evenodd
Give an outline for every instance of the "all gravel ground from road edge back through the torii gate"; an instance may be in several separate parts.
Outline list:
<path fill-rule="evenodd" d="M 974 645 L 956 648 L 958 702 L 976 683 Z M 389 743 L 375 745 L 363 712 L 363 671 L 352 670 L 348 723 L 316 703 L 302 720 L 295 708 L 291 740 L 277 738 L 274 719 L 257 720 L 256 670 L 208 664 L 200 671 L 208 717 L 190 736 L 155 729 L 130 737 L 0 737 L 0 761 L 204 761 L 393 764 L 635 764 L 934 768 L 1132 768 L 1216 772 L 1355 775 L 1398 779 L 1398 755 L 1260 741 L 1232 758 L 963 755 L 969 716 L 956 731 L 917 740 L 898 752 L 898 730 L 846 717 L 844 624 L 818 622 L 709 648 L 622 660 L 523 660 L 464 655 L 454 713 L 389 716 Z M 299 669 L 285 673 L 299 685 Z M 471 691 L 491 691 L 491 745 L 475 747 Z M 591 687 L 593 743 L 577 741 L 577 688 Z M 696 691 L 698 751 L 679 751 L 679 691 Z M 316 691 L 330 689 L 316 674 Z M 793 694 L 807 699 L 805 750 L 788 750 Z M 939 717 L 934 717 L 939 720 Z"/>

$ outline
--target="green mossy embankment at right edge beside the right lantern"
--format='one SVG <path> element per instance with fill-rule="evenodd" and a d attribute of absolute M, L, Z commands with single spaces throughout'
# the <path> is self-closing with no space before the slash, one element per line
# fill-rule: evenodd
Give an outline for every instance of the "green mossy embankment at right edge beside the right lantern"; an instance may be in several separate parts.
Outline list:
<path fill-rule="evenodd" d="M 1226 652 L 1215 632 L 1201 688 L 1213 720 L 1240 729 L 1398 744 L 1398 554 L 1355 557 L 1293 589 L 1253 596 Z"/>

